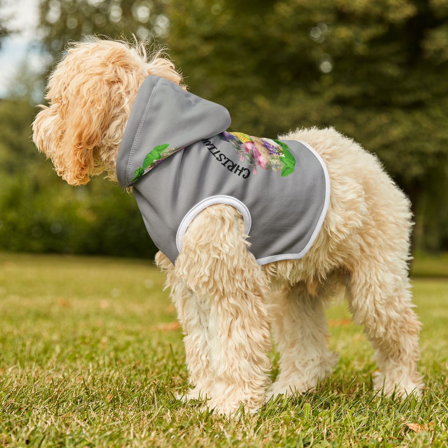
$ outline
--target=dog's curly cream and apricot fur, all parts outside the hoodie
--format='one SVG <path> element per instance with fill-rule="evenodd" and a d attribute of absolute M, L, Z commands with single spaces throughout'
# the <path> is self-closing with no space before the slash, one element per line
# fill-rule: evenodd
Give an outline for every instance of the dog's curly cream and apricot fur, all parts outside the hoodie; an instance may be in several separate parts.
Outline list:
<path fill-rule="evenodd" d="M 170 60 L 161 52 L 148 58 L 141 43 L 92 39 L 69 46 L 49 78 L 49 105 L 33 124 L 36 146 L 69 184 L 102 172 L 116 180 L 121 138 L 148 74 L 182 82 Z M 324 309 L 344 285 L 353 319 L 376 350 L 375 388 L 419 394 L 409 200 L 374 155 L 332 128 L 280 138 L 307 142 L 330 177 L 328 212 L 305 257 L 259 266 L 240 213 L 224 204 L 207 207 L 190 224 L 175 266 L 156 255 L 185 333 L 192 385 L 185 398 L 207 397 L 210 409 L 230 415 L 241 403 L 255 411 L 266 396 L 313 389 L 336 363 L 326 346 Z M 270 327 L 280 350 L 273 384 Z"/>

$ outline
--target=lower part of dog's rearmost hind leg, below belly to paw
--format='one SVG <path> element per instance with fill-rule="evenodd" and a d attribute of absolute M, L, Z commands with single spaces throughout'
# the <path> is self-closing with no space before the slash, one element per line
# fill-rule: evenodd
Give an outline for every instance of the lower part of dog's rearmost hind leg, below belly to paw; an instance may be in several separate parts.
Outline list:
<path fill-rule="evenodd" d="M 404 260 L 368 257 L 351 273 L 349 306 L 356 323 L 376 350 L 379 373 L 375 389 L 391 395 L 420 394 L 423 383 L 417 372 L 420 323 L 413 311 Z"/>

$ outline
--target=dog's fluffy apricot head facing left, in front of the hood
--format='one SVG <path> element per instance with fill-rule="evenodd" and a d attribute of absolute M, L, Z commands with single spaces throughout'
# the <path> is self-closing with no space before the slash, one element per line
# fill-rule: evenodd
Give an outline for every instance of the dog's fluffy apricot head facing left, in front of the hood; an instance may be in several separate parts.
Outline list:
<path fill-rule="evenodd" d="M 181 83 L 161 54 L 148 58 L 143 43 L 93 39 L 69 45 L 48 79 L 48 106 L 40 106 L 33 140 L 70 185 L 86 184 L 102 172 L 116 179 L 116 156 L 145 77 Z"/>

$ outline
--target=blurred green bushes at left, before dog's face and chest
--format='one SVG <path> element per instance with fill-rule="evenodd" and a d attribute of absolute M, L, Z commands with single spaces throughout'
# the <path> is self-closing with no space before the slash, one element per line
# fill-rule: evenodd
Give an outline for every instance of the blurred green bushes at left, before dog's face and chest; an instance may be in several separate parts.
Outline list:
<path fill-rule="evenodd" d="M 31 141 L 35 108 L 0 100 L 0 250 L 152 257 L 134 198 L 96 177 L 71 187 Z"/>

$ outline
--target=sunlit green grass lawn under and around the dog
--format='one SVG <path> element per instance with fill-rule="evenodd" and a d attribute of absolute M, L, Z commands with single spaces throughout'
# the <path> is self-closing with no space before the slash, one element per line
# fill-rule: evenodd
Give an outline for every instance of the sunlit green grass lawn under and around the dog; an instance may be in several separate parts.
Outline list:
<path fill-rule="evenodd" d="M 448 280 L 413 280 L 421 400 L 375 396 L 372 349 L 340 305 L 334 373 L 239 422 L 176 399 L 187 374 L 163 282 L 149 261 L 0 254 L 0 446 L 448 446 Z"/>

